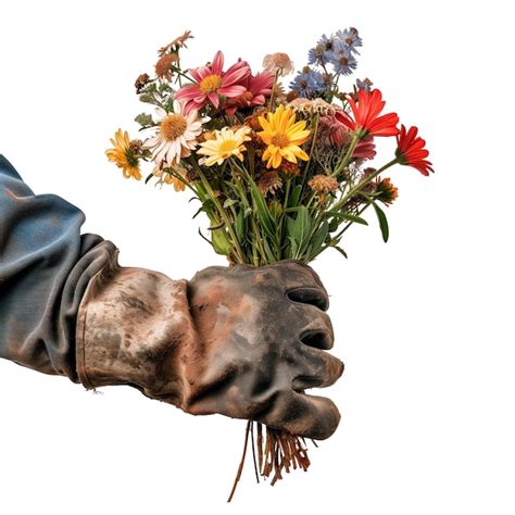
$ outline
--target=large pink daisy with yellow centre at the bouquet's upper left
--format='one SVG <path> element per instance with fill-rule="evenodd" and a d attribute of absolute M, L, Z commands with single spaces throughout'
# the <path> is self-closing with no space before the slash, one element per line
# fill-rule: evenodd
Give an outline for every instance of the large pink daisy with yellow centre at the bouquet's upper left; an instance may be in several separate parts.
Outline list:
<path fill-rule="evenodd" d="M 218 109 L 221 95 L 231 99 L 246 92 L 246 87 L 238 81 L 250 73 L 247 62 L 238 61 L 227 72 L 223 67 L 224 54 L 218 50 L 211 65 L 189 71 L 194 84 L 184 86 L 175 93 L 178 101 L 186 103 L 186 113 L 192 109 L 200 110 L 209 102 Z"/>

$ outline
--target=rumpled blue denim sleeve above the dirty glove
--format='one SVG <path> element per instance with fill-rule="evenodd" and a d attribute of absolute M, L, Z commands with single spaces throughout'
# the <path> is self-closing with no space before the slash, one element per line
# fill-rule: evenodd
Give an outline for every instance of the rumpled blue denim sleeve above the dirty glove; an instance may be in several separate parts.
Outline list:
<path fill-rule="evenodd" d="M 74 382 L 78 306 L 116 252 L 80 235 L 84 221 L 62 198 L 34 194 L 0 155 L 0 357 Z"/>

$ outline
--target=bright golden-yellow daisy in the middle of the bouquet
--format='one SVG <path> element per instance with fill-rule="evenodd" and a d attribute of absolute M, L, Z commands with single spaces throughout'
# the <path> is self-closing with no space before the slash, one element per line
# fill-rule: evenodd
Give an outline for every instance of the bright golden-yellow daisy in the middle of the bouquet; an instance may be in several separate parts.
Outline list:
<path fill-rule="evenodd" d="M 290 108 L 280 104 L 274 113 L 266 113 L 266 118 L 260 116 L 263 130 L 258 136 L 267 146 L 263 153 L 263 161 L 267 161 L 267 168 L 278 168 L 282 159 L 297 163 L 297 159 L 307 161 L 309 155 L 300 148 L 310 137 L 305 129 L 305 122 L 297 122 Z"/>

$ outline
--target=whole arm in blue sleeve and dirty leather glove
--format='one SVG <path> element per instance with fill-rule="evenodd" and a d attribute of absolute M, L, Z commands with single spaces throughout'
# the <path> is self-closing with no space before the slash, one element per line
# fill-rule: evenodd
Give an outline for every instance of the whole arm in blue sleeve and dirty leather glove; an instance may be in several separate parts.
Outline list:
<path fill-rule="evenodd" d="M 0 357 L 86 388 L 129 385 L 191 414 L 324 439 L 340 415 L 305 389 L 343 364 L 312 268 L 209 267 L 191 280 L 121 267 L 63 199 L 35 196 L 0 156 Z"/>

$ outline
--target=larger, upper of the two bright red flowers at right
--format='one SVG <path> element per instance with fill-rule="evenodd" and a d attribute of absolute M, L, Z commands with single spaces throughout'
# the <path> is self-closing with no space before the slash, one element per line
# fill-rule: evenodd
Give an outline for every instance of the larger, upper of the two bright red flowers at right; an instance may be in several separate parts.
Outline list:
<path fill-rule="evenodd" d="M 337 112 L 337 120 L 346 127 L 353 130 L 360 139 L 368 136 L 395 136 L 399 133 L 397 124 L 399 116 L 395 113 L 388 113 L 379 116 L 385 101 L 378 89 L 365 91 L 360 89 L 357 92 L 357 103 L 349 97 L 349 104 L 352 109 L 352 118 L 347 113 Z"/>

